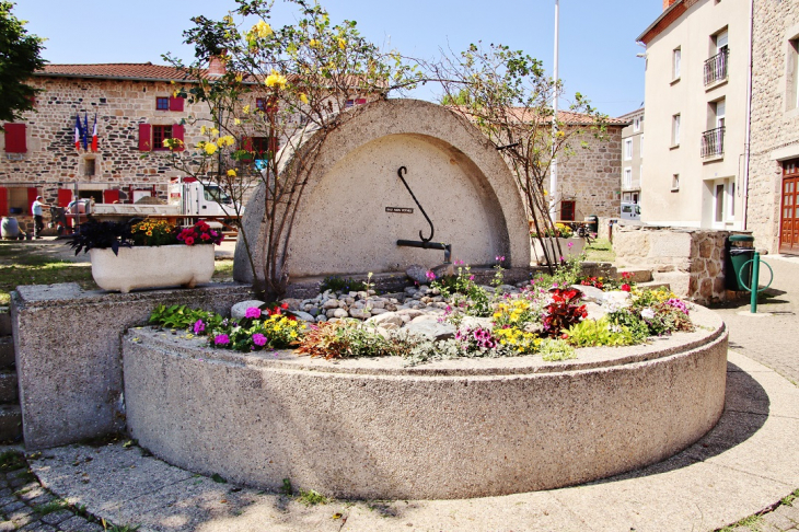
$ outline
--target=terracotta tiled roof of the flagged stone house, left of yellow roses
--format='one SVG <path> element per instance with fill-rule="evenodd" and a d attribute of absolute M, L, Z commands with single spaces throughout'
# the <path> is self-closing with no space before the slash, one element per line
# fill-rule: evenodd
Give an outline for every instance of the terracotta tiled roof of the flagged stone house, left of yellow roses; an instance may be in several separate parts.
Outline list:
<path fill-rule="evenodd" d="M 204 76 L 207 70 L 202 70 Z M 62 78 L 97 78 L 106 80 L 172 81 L 188 80 L 186 72 L 151 62 L 108 62 L 99 65 L 45 65 L 34 76 Z"/>

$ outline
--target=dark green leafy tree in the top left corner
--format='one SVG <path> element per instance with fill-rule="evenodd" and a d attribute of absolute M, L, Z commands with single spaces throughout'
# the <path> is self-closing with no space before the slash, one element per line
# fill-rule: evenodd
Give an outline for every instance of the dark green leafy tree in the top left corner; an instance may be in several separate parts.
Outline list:
<path fill-rule="evenodd" d="M 44 39 L 28 35 L 25 21 L 18 20 L 13 2 L 0 1 L 0 122 L 13 122 L 34 108 L 38 89 L 24 82 L 44 67 Z"/>

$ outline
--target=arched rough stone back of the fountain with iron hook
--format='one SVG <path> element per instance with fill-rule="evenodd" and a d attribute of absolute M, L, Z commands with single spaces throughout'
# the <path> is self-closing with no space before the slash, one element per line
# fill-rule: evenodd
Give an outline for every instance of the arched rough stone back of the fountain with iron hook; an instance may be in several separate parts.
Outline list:
<path fill-rule="evenodd" d="M 444 107 L 416 100 L 374 102 L 341 119 L 346 122 L 326 139 L 305 185 L 289 245 L 292 278 L 403 271 L 410 264 L 442 262 L 442 251 L 396 245 L 397 240 L 418 240 L 420 230 L 429 234 L 397 176 L 401 166 L 407 167 L 405 180 L 433 221 L 433 241 L 452 244 L 453 258 L 491 265 L 502 255 L 509 266 L 530 264 L 526 213 L 516 182 L 475 127 Z M 285 169 L 294 157 L 282 157 Z M 257 271 L 264 261 L 263 195 L 259 186 L 244 216 L 247 234 L 258 234 Z M 389 213 L 386 207 L 414 212 Z M 320 231 L 321 223 L 335 230 Z M 236 246 L 234 278 L 246 281 L 251 275 L 244 247 Z"/>

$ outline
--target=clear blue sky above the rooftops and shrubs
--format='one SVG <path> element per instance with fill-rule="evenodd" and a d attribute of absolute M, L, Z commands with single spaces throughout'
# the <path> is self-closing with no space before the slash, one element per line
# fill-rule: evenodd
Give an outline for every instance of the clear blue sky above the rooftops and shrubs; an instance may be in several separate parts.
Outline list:
<path fill-rule="evenodd" d="M 14 14 L 47 38 L 45 59 L 56 63 L 162 63 L 171 51 L 190 60 L 182 33 L 189 18 L 218 20 L 232 0 L 16 0 Z M 277 3 L 281 3 L 277 0 Z M 323 0 L 333 21 L 358 22 L 372 42 L 426 59 L 439 48 L 460 51 L 470 43 L 523 49 L 553 68 L 555 0 Z M 644 49 L 635 38 L 660 14 L 661 0 L 560 0 L 560 79 L 601 112 L 618 116 L 644 100 Z M 283 10 L 283 13 L 285 10 Z M 288 13 L 273 25 L 293 22 Z M 429 89 L 416 97 L 432 99 Z"/>

